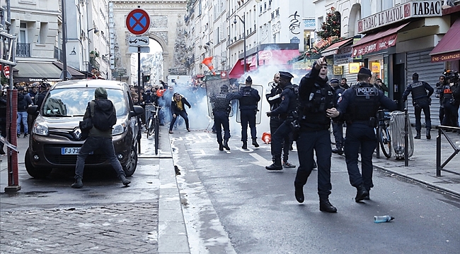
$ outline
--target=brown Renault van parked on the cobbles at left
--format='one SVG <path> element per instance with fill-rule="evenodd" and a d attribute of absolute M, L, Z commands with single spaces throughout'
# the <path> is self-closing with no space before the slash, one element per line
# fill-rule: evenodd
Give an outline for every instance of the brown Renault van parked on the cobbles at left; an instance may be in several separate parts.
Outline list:
<path fill-rule="evenodd" d="M 115 80 L 67 80 L 50 88 L 40 109 L 28 108 L 28 114 L 37 116 L 32 126 L 29 147 L 25 152 L 25 169 L 30 176 L 44 178 L 52 169 L 75 168 L 81 140 L 79 121 L 83 119 L 88 102 L 94 99 L 94 90 L 104 87 L 117 112 L 113 126 L 113 146 L 126 176 L 137 167 L 137 117 L 144 109 L 132 102 L 130 87 Z M 85 161 L 86 169 L 111 167 L 102 151 L 94 151 Z"/>

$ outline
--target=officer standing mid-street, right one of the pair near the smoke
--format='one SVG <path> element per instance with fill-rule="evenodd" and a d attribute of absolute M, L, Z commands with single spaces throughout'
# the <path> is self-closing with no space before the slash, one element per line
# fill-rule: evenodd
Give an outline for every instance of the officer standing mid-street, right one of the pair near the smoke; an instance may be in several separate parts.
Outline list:
<path fill-rule="evenodd" d="M 246 78 L 246 86 L 240 87 L 238 94 L 240 98 L 240 113 L 241 113 L 241 141 L 243 146 L 241 148 L 248 148 L 248 123 L 251 128 L 251 138 L 253 139 L 253 146 L 259 147 L 257 143 L 257 131 L 255 130 L 255 114 L 257 114 L 257 103 L 260 101 L 258 90 L 251 87 L 253 80 L 251 76 Z"/>

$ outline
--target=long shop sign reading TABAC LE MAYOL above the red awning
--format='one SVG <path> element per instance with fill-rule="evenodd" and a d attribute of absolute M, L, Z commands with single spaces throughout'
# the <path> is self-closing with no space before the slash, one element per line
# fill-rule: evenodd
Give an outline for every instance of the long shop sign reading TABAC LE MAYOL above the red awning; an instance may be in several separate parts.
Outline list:
<path fill-rule="evenodd" d="M 442 16 L 442 1 L 410 1 L 358 20 L 358 32 L 393 24 L 408 18 Z"/>

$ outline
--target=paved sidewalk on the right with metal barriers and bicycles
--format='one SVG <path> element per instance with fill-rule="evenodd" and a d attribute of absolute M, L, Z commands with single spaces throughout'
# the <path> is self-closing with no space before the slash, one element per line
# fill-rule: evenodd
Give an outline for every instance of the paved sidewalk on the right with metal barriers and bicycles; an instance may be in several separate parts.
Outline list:
<path fill-rule="evenodd" d="M 415 135 L 415 127 L 412 127 L 412 133 Z M 414 139 L 414 152 L 413 156 L 409 157 L 408 167 L 404 167 L 404 159 L 396 159 L 391 157 L 386 159 L 382 152 L 380 152 L 380 159 L 376 159 L 376 154 L 372 162 L 374 168 L 388 171 L 391 174 L 403 176 L 406 179 L 422 183 L 430 188 L 435 188 L 440 191 L 451 193 L 460 197 L 460 176 L 446 171 L 441 171 L 441 176 L 436 176 L 436 138 L 438 130 L 436 128 L 431 131 L 431 140 L 425 138 L 425 129 L 422 130 L 422 138 L 420 140 Z M 345 132 L 344 132 L 345 135 Z M 459 133 L 447 133 L 456 145 L 457 149 L 460 147 Z M 333 135 L 331 135 L 332 140 Z M 449 144 L 444 135 L 441 138 L 441 164 L 443 164 L 449 156 L 454 153 L 454 149 Z M 345 155 L 342 155 L 345 156 Z M 460 155 L 456 155 L 444 167 L 450 171 L 458 172 L 460 174 Z"/>

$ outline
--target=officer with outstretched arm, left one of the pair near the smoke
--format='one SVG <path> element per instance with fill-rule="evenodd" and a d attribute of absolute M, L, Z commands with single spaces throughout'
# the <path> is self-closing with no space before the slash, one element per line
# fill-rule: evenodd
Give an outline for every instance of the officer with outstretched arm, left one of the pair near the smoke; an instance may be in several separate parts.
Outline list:
<path fill-rule="evenodd" d="M 214 115 L 214 126 L 216 128 L 217 143 L 219 143 L 219 150 L 230 150 L 230 123 L 229 114 L 231 111 L 230 102 L 232 99 L 239 99 L 241 95 L 236 92 L 229 92 L 228 85 L 220 87 L 220 93 L 211 98 L 212 114 Z M 222 143 L 222 128 L 224 128 L 224 143 Z"/>

